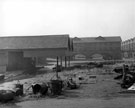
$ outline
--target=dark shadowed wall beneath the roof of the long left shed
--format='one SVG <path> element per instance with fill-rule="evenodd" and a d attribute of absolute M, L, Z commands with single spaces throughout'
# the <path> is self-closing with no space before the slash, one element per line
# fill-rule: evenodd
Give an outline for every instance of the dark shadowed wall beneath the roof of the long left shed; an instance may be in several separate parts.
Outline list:
<path fill-rule="evenodd" d="M 7 70 L 26 70 L 35 65 L 45 65 L 46 57 L 65 56 L 67 49 L 8 50 Z"/>

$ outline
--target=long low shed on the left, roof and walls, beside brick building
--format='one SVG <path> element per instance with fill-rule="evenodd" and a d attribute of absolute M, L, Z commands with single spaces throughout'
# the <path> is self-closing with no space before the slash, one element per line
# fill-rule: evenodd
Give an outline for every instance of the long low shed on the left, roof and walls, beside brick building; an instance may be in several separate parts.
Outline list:
<path fill-rule="evenodd" d="M 72 45 L 69 35 L 0 37 L 0 72 L 27 69 L 42 57 L 65 58 Z"/>

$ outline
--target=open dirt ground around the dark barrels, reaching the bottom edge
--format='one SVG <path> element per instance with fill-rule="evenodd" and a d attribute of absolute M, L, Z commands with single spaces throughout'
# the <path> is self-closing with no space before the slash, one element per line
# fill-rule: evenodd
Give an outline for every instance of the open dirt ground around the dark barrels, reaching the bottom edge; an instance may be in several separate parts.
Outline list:
<path fill-rule="evenodd" d="M 65 89 L 62 95 L 57 97 L 36 97 L 31 94 L 32 89 L 26 90 L 33 82 L 48 82 L 54 72 L 43 71 L 34 77 L 20 80 L 24 85 L 24 97 L 18 98 L 6 104 L 1 104 L 0 108 L 133 108 L 135 107 L 135 93 L 123 93 L 120 81 L 114 80 L 117 76 L 112 71 L 113 66 L 93 69 L 74 69 L 59 72 L 62 80 L 72 77 L 80 86 L 78 89 Z M 90 76 L 96 76 L 90 78 Z M 82 80 L 79 80 L 79 77 Z M 120 104 L 119 104 L 120 103 Z"/>

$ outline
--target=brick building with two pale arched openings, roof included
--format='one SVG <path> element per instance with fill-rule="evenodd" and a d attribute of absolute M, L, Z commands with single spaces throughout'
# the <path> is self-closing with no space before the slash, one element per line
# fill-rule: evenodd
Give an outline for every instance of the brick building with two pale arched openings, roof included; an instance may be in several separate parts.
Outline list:
<path fill-rule="evenodd" d="M 85 37 L 73 39 L 74 52 L 87 59 L 121 59 L 121 37 Z"/>

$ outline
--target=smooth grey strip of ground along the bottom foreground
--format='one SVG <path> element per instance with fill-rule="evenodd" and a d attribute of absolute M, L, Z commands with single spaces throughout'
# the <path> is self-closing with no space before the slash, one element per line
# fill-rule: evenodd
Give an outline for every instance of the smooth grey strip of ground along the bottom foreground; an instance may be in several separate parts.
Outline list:
<path fill-rule="evenodd" d="M 43 99 L 2 105 L 1 108 L 134 108 L 135 98 Z"/>

